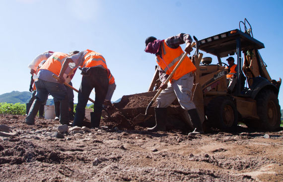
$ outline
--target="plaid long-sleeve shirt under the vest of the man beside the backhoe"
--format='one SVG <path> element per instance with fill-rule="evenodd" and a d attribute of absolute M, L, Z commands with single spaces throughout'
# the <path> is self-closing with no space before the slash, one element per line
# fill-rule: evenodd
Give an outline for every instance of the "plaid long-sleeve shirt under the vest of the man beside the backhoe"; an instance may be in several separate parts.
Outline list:
<path fill-rule="evenodd" d="M 172 49 L 176 49 L 178 48 L 181 44 L 184 43 L 192 43 L 192 37 L 189 34 L 184 34 L 184 33 L 180 33 L 178 35 L 175 35 L 173 37 L 168 37 L 167 39 L 165 39 L 164 41 L 166 43 L 166 45 L 169 48 Z M 159 55 L 160 57 L 162 57 L 162 53 L 161 53 L 161 49 L 159 49 L 159 52 L 156 54 L 156 56 Z M 167 75 L 165 73 L 165 71 L 163 69 L 161 69 L 160 66 L 158 66 L 158 70 L 159 70 L 159 80 L 161 82 L 166 81 L 166 79 L 168 78 L 169 75 Z"/>

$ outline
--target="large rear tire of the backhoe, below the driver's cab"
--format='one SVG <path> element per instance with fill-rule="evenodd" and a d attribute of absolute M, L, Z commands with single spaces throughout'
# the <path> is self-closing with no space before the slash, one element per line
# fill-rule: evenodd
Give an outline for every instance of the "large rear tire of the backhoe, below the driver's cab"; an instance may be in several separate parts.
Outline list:
<path fill-rule="evenodd" d="M 246 122 L 248 127 L 274 131 L 280 127 L 281 111 L 277 95 L 272 90 L 262 90 L 258 93 L 257 114 L 260 120 Z"/>

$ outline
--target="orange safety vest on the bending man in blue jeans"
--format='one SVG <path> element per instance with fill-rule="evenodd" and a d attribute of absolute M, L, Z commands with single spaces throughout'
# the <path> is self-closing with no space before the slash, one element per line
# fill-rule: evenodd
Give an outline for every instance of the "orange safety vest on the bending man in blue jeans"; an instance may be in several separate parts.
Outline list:
<path fill-rule="evenodd" d="M 39 68 L 47 69 L 57 76 L 60 73 L 63 62 L 68 58 L 68 55 L 65 53 L 55 52 L 51 57 L 49 57 L 45 63 Z"/>

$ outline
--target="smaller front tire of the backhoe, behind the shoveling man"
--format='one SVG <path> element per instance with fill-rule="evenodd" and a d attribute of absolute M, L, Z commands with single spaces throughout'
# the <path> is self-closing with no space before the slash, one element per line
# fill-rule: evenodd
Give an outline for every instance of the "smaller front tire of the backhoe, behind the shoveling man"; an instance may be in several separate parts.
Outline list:
<path fill-rule="evenodd" d="M 238 111 L 230 97 L 216 97 L 207 106 L 209 124 L 224 131 L 235 131 L 238 124 Z"/>

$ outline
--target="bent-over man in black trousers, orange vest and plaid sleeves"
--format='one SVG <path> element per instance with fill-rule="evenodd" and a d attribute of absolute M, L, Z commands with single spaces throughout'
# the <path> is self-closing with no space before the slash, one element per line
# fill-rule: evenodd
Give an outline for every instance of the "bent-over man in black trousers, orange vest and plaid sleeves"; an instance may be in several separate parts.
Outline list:
<path fill-rule="evenodd" d="M 103 56 L 91 50 L 79 52 L 66 59 L 59 74 L 60 82 L 63 83 L 64 72 L 79 67 L 82 74 L 81 84 L 78 91 L 78 102 L 75 109 L 73 126 L 81 126 L 90 92 L 95 88 L 95 103 L 93 115 L 91 115 L 91 127 L 98 127 L 101 118 L 102 105 L 108 90 L 108 68 Z"/>

